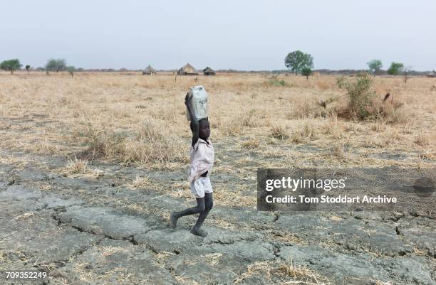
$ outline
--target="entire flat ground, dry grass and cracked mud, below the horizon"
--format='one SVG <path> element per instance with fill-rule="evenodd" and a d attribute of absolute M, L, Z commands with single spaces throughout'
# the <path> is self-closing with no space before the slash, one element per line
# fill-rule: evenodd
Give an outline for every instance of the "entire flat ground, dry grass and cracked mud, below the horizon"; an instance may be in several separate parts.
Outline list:
<path fill-rule="evenodd" d="M 196 217 L 168 225 L 194 205 L 182 100 L 197 84 L 216 151 L 204 238 Z M 48 272 L 32 284 L 436 284 L 432 210 L 256 211 L 257 168 L 435 168 L 435 80 L 374 84 L 403 104 L 394 119 L 338 117 L 329 76 L 0 74 L 0 270 Z"/>

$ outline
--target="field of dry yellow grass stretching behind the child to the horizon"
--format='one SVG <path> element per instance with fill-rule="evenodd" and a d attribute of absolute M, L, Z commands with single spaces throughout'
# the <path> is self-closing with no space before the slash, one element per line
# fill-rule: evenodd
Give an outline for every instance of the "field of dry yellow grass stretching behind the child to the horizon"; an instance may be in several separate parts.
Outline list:
<path fill-rule="evenodd" d="M 350 106 L 337 77 L 77 72 L 0 74 L 2 148 L 68 155 L 151 168 L 189 163 L 184 97 L 192 85 L 209 92 L 215 171 L 257 167 L 434 166 L 436 91 L 432 78 L 375 77 L 383 116 L 344 117 Z M 354 80 L 354 78 L 348 78 Z M 390 92 L 390 99 L 383 97 Z M 396 153 L 410 159 L 380 158 Z M 239 165 L 237 161 L 248 161 Z M 418 160 L 418 161 L 417 161 Z M 242 175 L 242 174 L 241 174 Z"/>

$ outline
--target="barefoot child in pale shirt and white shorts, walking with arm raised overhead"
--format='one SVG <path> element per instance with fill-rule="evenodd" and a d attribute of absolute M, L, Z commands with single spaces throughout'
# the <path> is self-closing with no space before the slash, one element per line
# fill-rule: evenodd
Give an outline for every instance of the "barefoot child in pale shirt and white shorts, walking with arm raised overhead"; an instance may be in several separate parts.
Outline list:
<path fill-rule="evenodd" d="M 212 146 L 212 142 L 209 140 L 209 120 L 205 118 L 197 121 L 188 95 L 185 97 L 185 104 L 190 112 L 190 127 L 192 131 L 192 146 L 190 148 L 191 165 L 188 181 L 191 183 L 191 192 L 197 200 L 197 206 L 180 212 L 172 212 L 170 224 L 172 227 L 176 227 L 179 217 L 199 213 L 198 220 L 194 227 L 192 227 L 191 233 L 200 237 L 206 237 L 207 232 L 201 230 L 200 227 L 213 206 L 212 185 L 210 184 L 209 174 L 214 164 L 214 146 Z"/>

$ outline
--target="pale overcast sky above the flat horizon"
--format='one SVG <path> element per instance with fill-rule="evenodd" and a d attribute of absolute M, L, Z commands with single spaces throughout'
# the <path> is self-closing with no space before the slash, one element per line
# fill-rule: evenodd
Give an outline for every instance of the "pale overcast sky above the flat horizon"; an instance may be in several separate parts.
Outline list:
<path fill-rule="evenodd" d="M 316 69 L 379 58 L 436 70 L 436 1 L 1 1 L 0 60 L 81 68 L 284 69 L 293 50 Z"/>

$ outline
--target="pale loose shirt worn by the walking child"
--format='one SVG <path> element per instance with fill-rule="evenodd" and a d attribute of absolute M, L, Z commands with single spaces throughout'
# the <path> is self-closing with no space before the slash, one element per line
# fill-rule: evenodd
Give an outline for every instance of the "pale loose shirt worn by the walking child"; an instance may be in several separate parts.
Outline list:
<path fill-rule="evenodd" d="M 209 143 L 209 144 L 207 144 Z M 212 141 L 210 139 L 198 139 L 194 146 L 191 146 L 191 165 L 190 171 L 188 173 L 187 181 L 196 181 L 199 176 L 207 171 L 207 176 L 209 176 L 212 166 L 214 165 L 214 146 L 212 146 Z"/>

